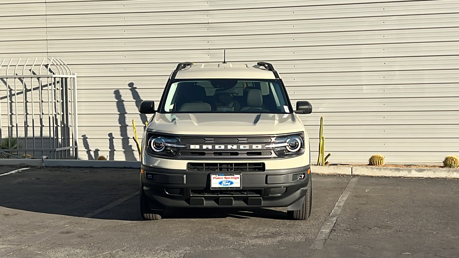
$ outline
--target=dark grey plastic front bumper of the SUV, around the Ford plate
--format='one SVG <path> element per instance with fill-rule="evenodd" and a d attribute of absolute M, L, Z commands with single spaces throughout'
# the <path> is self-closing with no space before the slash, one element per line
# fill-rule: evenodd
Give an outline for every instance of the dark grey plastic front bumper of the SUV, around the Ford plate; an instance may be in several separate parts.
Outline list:
<path fill-rule="evenodd" d="M 141 186 L 152 209 L 287 207 L 300 209 L 311 174 L 310 166 L 242 172 L 237 190 L 211 190 L 208 171 L 154 168 L 142 165 Z M 225 172 L 226 173 L 226 172 Z M 232 173 L 232 172 L 229 172 Z M 298 179 L 298 174 L 305 174 Z M 147 179 L 147 175 L 150 179 Z M 300 207 L 300 208 L 298 208 Z"/>

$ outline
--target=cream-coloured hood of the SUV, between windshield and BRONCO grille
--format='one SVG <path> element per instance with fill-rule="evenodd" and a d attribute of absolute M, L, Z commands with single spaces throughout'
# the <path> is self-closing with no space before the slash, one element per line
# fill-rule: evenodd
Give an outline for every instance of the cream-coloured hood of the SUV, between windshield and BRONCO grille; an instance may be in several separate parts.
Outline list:
<path fill-rule="evenodd" d="M 156 113 L 147 131 L 176 135 L 277 135 L 304 131 L 296 114 Z"/>

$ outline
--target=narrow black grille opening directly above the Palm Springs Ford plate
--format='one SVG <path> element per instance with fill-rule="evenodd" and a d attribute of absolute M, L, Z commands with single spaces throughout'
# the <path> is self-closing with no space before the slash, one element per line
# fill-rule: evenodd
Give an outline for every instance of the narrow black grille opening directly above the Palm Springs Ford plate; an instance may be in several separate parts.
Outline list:
<path fill-rule="evenodd" d="M 187 163 L 187 171 L 202 172 L 263 172 L 264 163 Z"/>

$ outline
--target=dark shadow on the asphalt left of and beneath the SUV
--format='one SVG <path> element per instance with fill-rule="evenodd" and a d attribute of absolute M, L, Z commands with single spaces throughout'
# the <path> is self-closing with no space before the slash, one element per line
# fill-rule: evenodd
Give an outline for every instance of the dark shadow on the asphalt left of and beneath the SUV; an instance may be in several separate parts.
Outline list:
<path fill-rule="evenodd" d="M 5 168 L 5 172 L 12 169 Z M 0 206 L 37 213 L 135 221 L 142 220 L 139 195 L 135 195 L 138 191 L 138 169 L 32 168 L 0 178 Z M 126 196 L 133 197 L 123 199 Z M 112 203 L 116 205 L 111 206 Z M 94 214 L 97 211 L 101 212 Z M 286 214 L 268 208 L 174 208 L 166 211 L 163 218 L 287 219 Z"/>

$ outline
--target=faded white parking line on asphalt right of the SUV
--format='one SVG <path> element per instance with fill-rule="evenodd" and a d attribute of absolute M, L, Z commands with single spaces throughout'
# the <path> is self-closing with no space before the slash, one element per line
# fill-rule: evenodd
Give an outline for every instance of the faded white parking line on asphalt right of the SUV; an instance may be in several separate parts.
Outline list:
<path fill-rule="evenodd" d="M 351 193 L 351 190 L 354 188 L 355 184 L 357 184 L 357 180 L 357 177 L 353 177 L 349 180 L 346 187 L 344 188 L 344 191 L 341 193 L 341 196 L 338 198 L 338 201 L 336 201 L 335 206 L 331 210 L 331 213 L 325 219 L 325 222 L 320 228 L 319 233 L 317 233 L 313 244 L 311 247 L 309 247 L 310 249 L 322 249 L 322 247 L 324 247 L 325 240 L 328 238 L 328 236 L 330 236 L 330 232 L 335 226 L 336 219 L 338 219 L 338 215 L 344 206 L 344 202 L 346 202 L 346 199 Z"/>

